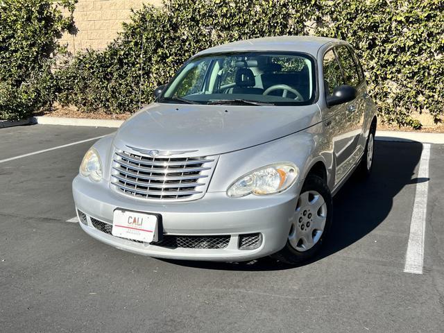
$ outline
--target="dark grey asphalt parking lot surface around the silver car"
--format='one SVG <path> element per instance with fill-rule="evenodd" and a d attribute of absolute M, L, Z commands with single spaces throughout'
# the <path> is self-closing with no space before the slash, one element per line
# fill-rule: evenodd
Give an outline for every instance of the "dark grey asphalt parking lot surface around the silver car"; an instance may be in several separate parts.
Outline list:
<path fill-rule="evenodd" d="M 0 130 L 0 332 L 443 332 L 444 146 L 377 142 L 373 174 L 334 198 L 314 262 L 178 262 L 125 253 L 77 223 L 71 180 L 110 128 Z M 27 155 L 58 146 L 54 150 Z M 406 273 L 427 184 L 422 274 Z"/>

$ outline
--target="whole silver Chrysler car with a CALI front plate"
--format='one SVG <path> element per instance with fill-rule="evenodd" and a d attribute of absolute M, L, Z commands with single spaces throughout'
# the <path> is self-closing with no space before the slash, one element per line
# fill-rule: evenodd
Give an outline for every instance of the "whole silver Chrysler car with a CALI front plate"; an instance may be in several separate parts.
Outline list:
<path fill-rule="evenodd" d="M 87 151 L 73 182 L 80 226 L 115 248 L 296 264 L 332 228 L 336 191 L 372 169 L 375 104 L 342 40 L 216 46 L 155 96 Z"/>

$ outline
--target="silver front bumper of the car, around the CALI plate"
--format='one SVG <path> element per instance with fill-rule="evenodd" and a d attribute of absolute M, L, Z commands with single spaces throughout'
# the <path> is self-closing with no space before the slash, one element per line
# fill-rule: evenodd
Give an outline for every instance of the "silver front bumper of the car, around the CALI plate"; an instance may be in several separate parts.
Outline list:
<path fill-rule="evenodd" d="M 76 209 L 87 216 L 87 224 L 80 223 L 80 226 L 95 239 L 140 255 L 221 262 L 257 259 L 283 248 L 296 207 L 296 195 L 292 192 L 296 191 L 244 198 L 228 198 L 223 192 L 209 192 L 198 200 L 169 203 L 124 196 L 110 189 L 105 180 L 93 183 L 77 176 L 73 181 Z M 164 235 L 229 235 L 230 241 L 225 248 L 170 248 L 114 237 L 94 228 L 91 218 L 112 225 L 113 213 L 117 208 L 160 214 L 163 229 L 160 233 Z M 262 244 L 255 249 L 239 249 L 239 235 L 252 233 L 261 234 Z"/>

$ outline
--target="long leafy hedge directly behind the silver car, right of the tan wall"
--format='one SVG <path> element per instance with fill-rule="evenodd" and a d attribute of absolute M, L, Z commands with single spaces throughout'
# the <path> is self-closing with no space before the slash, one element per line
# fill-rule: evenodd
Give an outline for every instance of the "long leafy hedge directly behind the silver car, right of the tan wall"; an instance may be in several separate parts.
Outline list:
<path fill-rule="evenodd" d="M 148 103 L 153 89 L 202 49 L 301 34 L 338 37 L 355 46 L 386 121 L 418 127 L 411 112 L 442 114 L 442 0 L 169 0 L 163 8 L 144 6 L 105 51 L 80 53 L 59 73 L 60 101 L 91 112 L 133 112 L 142 63 L 142 102 Z"/>

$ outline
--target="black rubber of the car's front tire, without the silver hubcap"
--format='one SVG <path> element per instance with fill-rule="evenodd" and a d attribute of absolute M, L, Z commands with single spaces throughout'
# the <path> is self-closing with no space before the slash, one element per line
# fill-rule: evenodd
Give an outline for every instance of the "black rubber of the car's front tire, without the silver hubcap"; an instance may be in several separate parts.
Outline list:
<path fill-rule="evenodd" d="M 280 250 L 278 253 L 271 255 L 274 259 L 278 259 L 280 262 L 284 262 L 285 264 L 301 264 L 302 262 L 307 262 L 309 259 L 313 258 L 314 255 L 318 252 L 318 250 L 323 246 L 323 241 L 328 236 L 333 218 L 333 203 L 332 203 L 332 194 L 330 193 L 330 189 L 327 187 L 325 181 L 314 175 L 309 175 L 305 179 L 304 185 L 302 185 L 302 189 L 300 191 L 301 194 L 306 191 L 316 191 L 318 194 L 323 196 L 325 204 L 327 205 L 327 216 L 325 221 L 325 227 L 323 233 L 321 234 L 321 238 L 317 241 L 317 243 L 310 248 L 309 250 L 299 251 L 296 250 L 287 239 L 287 243 L 284 248 Z M 296 209 L 296 207 L 295 207 Z M 291 230 L 289 230 L 291 232 Z"/>

